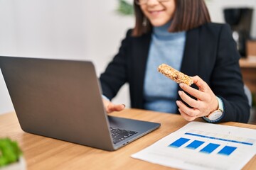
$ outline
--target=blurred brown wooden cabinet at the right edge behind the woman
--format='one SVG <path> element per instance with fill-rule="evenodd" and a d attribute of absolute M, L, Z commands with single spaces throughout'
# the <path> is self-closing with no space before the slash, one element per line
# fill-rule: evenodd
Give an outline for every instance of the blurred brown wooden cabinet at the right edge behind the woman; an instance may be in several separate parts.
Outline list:
<path fill-rule="evenodd" d="M 253 60 L 250 58 L 242 58 L 240 59 L 239 64 L 244 83 L 248 86 L 253 94 L 256 94 L 256 57 Z"/>

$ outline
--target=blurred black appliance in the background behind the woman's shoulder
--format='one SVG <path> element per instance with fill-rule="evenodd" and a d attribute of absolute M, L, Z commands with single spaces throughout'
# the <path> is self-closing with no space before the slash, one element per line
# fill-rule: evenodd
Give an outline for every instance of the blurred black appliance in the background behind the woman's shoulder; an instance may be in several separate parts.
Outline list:
<path fill-rule="evenodd" d="M 238 45 L 238 52 L 242 57 L 247 57 L 246 41 L 250 39 L 253 8 L 225 8 L 225 22 L 233 30 L 233 38 Z"/>

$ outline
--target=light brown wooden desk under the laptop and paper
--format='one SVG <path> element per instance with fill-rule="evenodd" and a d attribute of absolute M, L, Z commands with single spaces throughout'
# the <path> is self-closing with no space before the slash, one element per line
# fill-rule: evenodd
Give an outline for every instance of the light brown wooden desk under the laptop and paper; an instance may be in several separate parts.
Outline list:
<path fill-rule="evenodd" d="M 166 166 L 151 164 L 133 159 L 131 154 L 148 147 L 162 137 L 178 130 L 188 122 L 180 115 L 156 113 L 137 109 L 126 109 L 112 115 L 138 120 L 149 120 L 161 123 L 154 132 L 136 140 L 114 152 L 76 145 L 70 142 L 50 139 L 23 132 L 18 124 L 15 113 L 0 115 L 0 137 L 11 137 L 17 140 L 23 150 L 30 169 L 171 169 Z M 256 125 L 242 123 L 223 123 L 242 128 L 256 129 Z M 255 169 L 256 156 L 246 164 L 244 169 Z"/>

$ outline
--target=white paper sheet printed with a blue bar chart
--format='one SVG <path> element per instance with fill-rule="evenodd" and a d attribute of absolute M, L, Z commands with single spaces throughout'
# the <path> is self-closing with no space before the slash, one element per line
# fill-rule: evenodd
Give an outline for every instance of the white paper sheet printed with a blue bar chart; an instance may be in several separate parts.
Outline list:
<path fill-rule="evenodd" d="M 256 154 L 256 130 L 191 122 L 133 158 L 178 169 L 242 169 Z"/>

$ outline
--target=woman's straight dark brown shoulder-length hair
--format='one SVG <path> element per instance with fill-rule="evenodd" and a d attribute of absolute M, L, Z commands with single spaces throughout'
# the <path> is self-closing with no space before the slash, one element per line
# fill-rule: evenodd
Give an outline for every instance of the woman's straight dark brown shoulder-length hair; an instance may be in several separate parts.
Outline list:
<path fill-rule="evenodd" d="M 204 0 L 175 0 L 176 10 L 169 32 L 186 31 L 210 22 L 210 15 Z M 132 35 L 137 37 L 149 33 L 152 25 L 139 5 L 134 1 L 135 27 Z"/>

